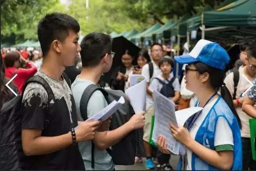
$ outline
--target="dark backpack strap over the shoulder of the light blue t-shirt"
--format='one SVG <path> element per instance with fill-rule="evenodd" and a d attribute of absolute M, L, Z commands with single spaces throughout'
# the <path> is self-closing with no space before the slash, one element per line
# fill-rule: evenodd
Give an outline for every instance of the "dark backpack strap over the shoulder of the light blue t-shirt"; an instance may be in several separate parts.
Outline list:
<path fill-rule="evenodd" d="M 104 95 L 105 99 L 108 101 L 107 92 L 102 87 L 99 87 L 95 84 L 91 84 L 91 85 L 87 86 L 84 90 L 84 93 L 82 94 L 82 97 L 81 97 L 81 100 L 80 100 L 80 106 L 79 106 L 81 116 L 84 120 L 88 119 L 87 105 L 88 105 L 89 99 L 91 98 L 92 94 L 96 90 L 100 90 L 102 92 L 102 94 Z"/>

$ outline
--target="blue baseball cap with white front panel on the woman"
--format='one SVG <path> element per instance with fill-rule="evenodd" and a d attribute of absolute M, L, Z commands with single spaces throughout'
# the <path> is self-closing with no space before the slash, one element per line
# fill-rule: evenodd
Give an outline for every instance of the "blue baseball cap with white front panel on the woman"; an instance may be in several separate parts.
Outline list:
<path fill-rule="evenodd" d="M 225 69 L 230 57 L 218 43 L 201 39 L 188 55 L 175 56 L 174 60 L 179 64 L 202 62 L 214 68 Z"/>

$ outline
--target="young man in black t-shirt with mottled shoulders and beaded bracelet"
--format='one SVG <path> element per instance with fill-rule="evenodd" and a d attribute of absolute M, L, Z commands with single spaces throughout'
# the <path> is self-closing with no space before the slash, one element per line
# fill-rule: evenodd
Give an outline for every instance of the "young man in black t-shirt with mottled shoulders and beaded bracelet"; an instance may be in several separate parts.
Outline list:
<path fill-rule="evenodd" d="M 23 95 L 22 148 L 33 170 L 84 170 L 76 142 L 91 140 L 100 121 L 78 125 L 74 98 L 62 73 L 72 66 L 81 50 L 78 22 L 62 13 L 47 14 L 38 24 L 44 55 L 42 77 L 53 91 L 48 97 L 42 84 L 31 82 Z M 50 102 L 48 98 L 52 99 Z M 51 116 L 51 117 L 49 117 Z M 48 118 L 49 117 L 49 118 Z M 50 119 L 51 118 L 51 119 Z M 74 134 L 75 133 L 75 134 Z"/>

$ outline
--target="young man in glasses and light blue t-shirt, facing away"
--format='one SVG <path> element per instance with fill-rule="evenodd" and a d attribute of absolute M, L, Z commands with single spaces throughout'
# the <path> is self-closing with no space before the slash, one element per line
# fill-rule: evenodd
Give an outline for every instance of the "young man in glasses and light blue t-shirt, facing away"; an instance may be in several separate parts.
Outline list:
<path fill-rule="evenodd" d="M 80 112 L 80 101 L 84 90 L 91 84 L 98 84 L 102 73 L 108 72 L 111 68 L 114 52 L 112 49 L 112 39 L 109 35 L 93 32 L 84 37 L 81 42 L 82 72 L 73 82 L 71 89 L 78 120 L 83 121 Z M 89 98 L 87 104 L 87 117 L 91 117 L 108 105 L 101 91 L 96 90 Z M 114 170 L 112 157 L 105 150 L 125 137 L 129 132 L 144 126 L 144 112 L 134 114 L 124 125 L 111 130 L 96 132 L 93 143 L 94 149 L 94 168 L 92 168 L 91 148 L 92 142 L 79 143 L 84 164 L 88 170 Z M 123 154 L 125 157 L 125 154 Z"/>

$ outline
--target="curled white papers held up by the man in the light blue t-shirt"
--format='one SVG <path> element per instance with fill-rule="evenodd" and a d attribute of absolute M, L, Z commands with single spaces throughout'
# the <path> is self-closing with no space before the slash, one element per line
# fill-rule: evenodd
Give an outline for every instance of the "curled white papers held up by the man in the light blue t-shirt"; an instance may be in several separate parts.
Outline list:
<path fill-rule="evenodd" d="M 130 86 L 125 94 L 128 96 L 135 113 L 145 110 L 146 79 L 143 75 L 130 75 Z"/>

